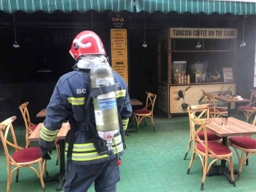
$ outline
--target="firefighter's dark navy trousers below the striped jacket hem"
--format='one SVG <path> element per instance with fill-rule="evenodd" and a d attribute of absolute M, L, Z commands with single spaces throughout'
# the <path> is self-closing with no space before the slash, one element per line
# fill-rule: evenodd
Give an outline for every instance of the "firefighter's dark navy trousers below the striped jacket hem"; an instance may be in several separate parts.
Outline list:
<path fill-rule="evenodd" d="M 117 158 L 99 164 L 72 164 L 65 172 L 65 192 L 86 192 L 95 182 L 95 192 L 116 192 L 119 181 Z"/>

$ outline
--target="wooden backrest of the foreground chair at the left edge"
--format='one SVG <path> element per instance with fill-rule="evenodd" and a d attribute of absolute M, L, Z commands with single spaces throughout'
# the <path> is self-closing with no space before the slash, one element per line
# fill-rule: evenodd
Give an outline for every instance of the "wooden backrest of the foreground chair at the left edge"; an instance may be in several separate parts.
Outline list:
<path fill-rule="evenodd" d="M 1 142 L 4 146 L 4 153 L 6 155 L 6 161 L 7 164 L 9 164 L 10 161 L 12 161 L 14 164 L 16 162 L 14 159 L 11 158 L 9 155 L 9 149 L 8 146 L 14 147 L 15 151 L 23 149 L 21 146 L 18 146 L 16 136 L 14 133 L 14 127 L 12 123 L 16 120 L 16 116 L 10 117 L 9 119 L 4 120 L 4 122 L 0 123 L 0 137 Z M 11 132 L 11 138 L 8 137 L 9 132 Z M 10 142 L 10 139 L 12 139 L 12 142 Z"/>

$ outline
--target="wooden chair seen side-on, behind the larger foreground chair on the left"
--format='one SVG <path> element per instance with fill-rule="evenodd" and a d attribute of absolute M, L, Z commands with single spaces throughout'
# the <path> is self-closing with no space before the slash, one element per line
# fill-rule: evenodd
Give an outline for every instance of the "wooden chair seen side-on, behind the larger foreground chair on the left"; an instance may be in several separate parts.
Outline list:
<path fill-rule="evenodd" d="M 30 144 L 30 142 L 28 141 L 28 137 L 31 135 L 33 130 L 35 130 L 37 127 L 37 124 L 31 123 L 27 106 L 28 106 L 28 102 L 24 102 L 22 105 L 18 107 L 21 110 L 21 114 L 26 126 L 26 148 L 28 148 Z"/>

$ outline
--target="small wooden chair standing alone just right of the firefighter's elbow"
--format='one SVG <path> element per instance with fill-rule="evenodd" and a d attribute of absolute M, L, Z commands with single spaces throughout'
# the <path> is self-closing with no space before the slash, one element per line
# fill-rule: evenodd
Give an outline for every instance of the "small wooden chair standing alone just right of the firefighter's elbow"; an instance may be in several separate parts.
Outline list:
<path fill-rule="evenodd" d="M 142 110 L 134 110 L 132 114 L 132 122 L 134 121 L 134 118 L 135 118 L 137 122 L 137 132 L 138 132 L 139 124 L 142 122 L 142 119 L 145 118 L 145 126 L 146 126 L 146 117 L 149 117 L 151 119 L 151 124 L 153 126 L 154 132 L 156 132 L 156 129 L 154 127 L 154 118 L 153 118 L 154 104 L 156 102 L 156 94 L 153 94 L 151 92 L 145 92 L 145 93 L 147 95 L 146 107 L 144 107 Z M 149 110 L 149 107 L 151 107 L 151 110 Z"/>

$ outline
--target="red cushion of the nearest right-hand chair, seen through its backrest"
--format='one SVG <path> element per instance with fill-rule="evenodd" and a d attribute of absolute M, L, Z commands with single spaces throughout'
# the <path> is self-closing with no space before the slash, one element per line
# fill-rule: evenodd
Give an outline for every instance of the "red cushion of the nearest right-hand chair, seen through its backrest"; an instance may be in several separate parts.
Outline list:
<path fill-rule="evenodd" d="M 202 144 L 197 144 L 196 148 L 199 151 L 202 151 L 203 153 L 206 152 L 206 149 L 203 147 Z M 219 144 L 217 142 L 208 142 L 208 149 L 210 149 L 211 151 L 213 151 L 217 155 L 225 155 L 225 154 L 230 154 L 231 153 L 231 150 L 228 149 L 228 146 L 225 146 L 223 144 Z M 210 152 L 209 152 L 209 154 L 210 154 Z"/>

